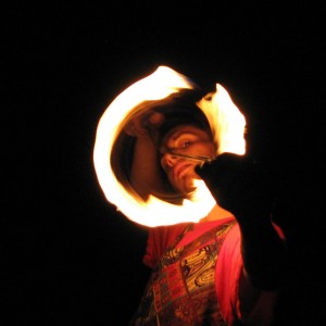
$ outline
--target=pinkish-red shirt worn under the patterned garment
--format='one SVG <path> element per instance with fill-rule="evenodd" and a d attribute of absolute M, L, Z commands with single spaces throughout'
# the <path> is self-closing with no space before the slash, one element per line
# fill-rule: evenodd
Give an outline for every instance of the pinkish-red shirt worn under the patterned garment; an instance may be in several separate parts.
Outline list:
<path fill-rule="evenodd" d="M 196 223 L 193 229 L 185 235 L 177 247 L 185 246 L 210 228 L 233 220 L 235 217 L 230 216 L 224 220 Z M 189 223 L 151 228 L 143 263 L 153 268 L 165 249 L 173 243 L 187 225 Z M 284 238 L 281 229 L 274 226 L 279 236 Z M 259 290 L 251 286 L 243 276 L 238 225 L 235 225 L 226 235 L 215 268 L 216 297 L 221 312 L 228 325 L 233 325 L 237 319 L 260 326 L 271 325 L 278 293 Z"/>

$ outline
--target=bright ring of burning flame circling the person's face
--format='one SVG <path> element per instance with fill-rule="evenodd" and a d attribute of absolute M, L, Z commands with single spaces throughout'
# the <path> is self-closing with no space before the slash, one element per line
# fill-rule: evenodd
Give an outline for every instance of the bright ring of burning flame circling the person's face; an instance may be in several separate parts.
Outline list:
<path fill-rule="evenodd" d="M 192 89 L 192 82 L 167 66 L 159 68 L 136 82 L 108 106 L 97 128 L 93 163 L 99 184 L 108 201 L 127 218 L 149 227 L 173 225 L 183 222 L 199 222 L 215 205 L 215 201 L 202 180 L 193 180 L 197 187 L 193 199 L 175 205 L 154 196 L 141 201 L 128 192 L 116 179 L 110 164 L 114 140 L 120 135 L 121 122 L 138 104 L 147 100 L 161 100 L 180 89 Z M 218 143 L 216 155 L 223 152 L 244 154 L 243 139 L 246 120 L 231 101 L 228 92 L 216 84 L 216 92 L 198 102 L 206 115 L 213 136 Z"/>

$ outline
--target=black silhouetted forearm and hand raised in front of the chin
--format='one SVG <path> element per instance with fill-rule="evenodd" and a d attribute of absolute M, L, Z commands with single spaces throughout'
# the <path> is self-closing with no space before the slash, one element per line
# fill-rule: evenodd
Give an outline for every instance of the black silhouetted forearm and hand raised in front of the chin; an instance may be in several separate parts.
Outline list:
<path fill-rule="evenodd" d="M 216 202 L 238 222 L 244 277 L 259 289 L 277 290 L 286 273 L 287 250 L 272 222 L 271 189 L 261 167 L 247 156 L 224 153 L 197 172 Z"/>

